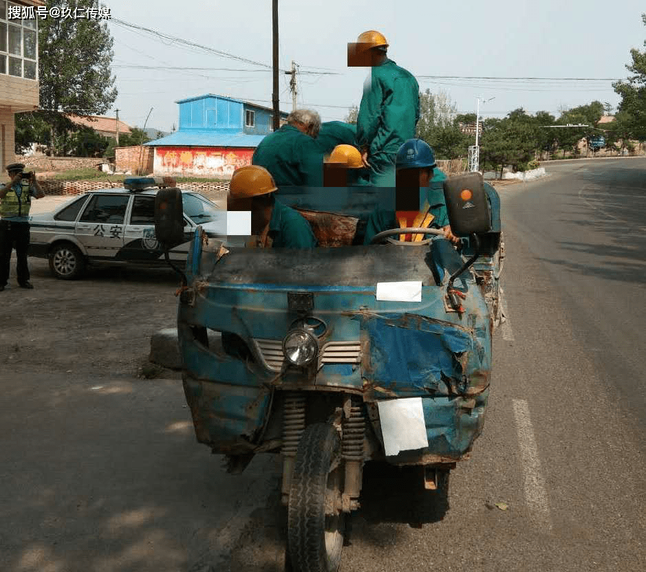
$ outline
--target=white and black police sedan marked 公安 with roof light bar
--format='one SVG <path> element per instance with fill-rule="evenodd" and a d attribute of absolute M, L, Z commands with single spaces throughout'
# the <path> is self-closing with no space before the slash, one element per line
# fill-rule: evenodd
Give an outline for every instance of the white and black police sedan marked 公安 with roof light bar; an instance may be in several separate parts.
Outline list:
<path fill-rule="evenodd" d="M 92 190 L 53 212 L 30 217 L 30 256 L 47 258 L 56 278 L 80 278 L 90 263 L 164 265 L 164 252 L 155 239 L 155 195 L 175 186 L 169 177 L 126 179 L 122 188 Z M 197 192 L 182 190 L 183 243 L 170 259 L 186 262 L 195 228 L 218 234 L 226 228 L 226 211 Z"/>

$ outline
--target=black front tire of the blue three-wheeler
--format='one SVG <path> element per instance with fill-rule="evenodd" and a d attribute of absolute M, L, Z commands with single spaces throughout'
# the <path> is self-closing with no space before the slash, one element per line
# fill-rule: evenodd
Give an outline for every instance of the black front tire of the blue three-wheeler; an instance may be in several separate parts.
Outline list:
<path fill-rule="evenodd" d="M 343 464 L 330 467 L 341 456 L 338 432 L 327 423 L 305 428 L 292 472 L 288 505 L 288 552 L 294 572 L 336 572 L 341 564 L 345 514 L 325 516 L 325 491 Z M 333 478 L 328 478 L 330 476 Z M 332 529 L 326 547 L 325 531 Z"/>

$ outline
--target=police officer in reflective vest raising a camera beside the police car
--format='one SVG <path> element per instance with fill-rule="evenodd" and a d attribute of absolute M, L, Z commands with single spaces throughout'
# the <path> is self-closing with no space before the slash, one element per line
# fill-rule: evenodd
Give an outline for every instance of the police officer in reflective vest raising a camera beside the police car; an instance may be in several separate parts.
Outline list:
<path fill-rule="evenodd" d="M 0 188 L 0 292 L 9 281 L 11 251 L 16 248 L 16 273 L 21 288 L 33 288 L 29 281 L 27 250 L 29 247 L 29 209 L 32 197 L 42 199 L 45 192 L 36 175 L 25 177 L 22 163 L 7 166 L 10 181 Z"/>

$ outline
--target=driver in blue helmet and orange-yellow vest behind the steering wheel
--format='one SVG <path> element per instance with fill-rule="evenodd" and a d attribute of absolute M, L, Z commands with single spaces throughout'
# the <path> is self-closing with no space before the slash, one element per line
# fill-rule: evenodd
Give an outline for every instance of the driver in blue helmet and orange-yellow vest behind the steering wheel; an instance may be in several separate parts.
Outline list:
<path fill-rule="evenodd" d="M 367 221 L 363 243 L 369 244 L 376 234 L 384 230 L 407 226 L 440 228 L 444 231 L 447 239 L 453 243 L 459 243 L 460 239 L 453 236 L 451 232 L 449 214 L 444 201 L 441 181 L 446 179 L 446 175 L 436 169 L 433 149 L 421 139 L 408 140 L 397 153 L 396 169 L 401 175 L 406 175 L 406 177 L 402 176 L 402 179 L 411 181 L 412 176 L 412 180 L 419 181 L 420 212 L 418 212 L 416 220 L 411 223 L 406 217 L 400 216 L 399 212 L 376 208 Z M 408 188 L 396 188 L 396 192 L 407 192 L 408 190 Z M 394 235 L 392 238 L 398 237 Z M 411 241 L 420 241 L 423 238 L 422 234 L 411 235 Z"/>

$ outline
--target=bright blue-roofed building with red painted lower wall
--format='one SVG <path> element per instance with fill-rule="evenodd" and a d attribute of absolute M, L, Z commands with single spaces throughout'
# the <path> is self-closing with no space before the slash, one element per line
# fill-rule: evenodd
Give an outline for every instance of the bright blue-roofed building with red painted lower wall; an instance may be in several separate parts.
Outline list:
<path fill-rule="evenodd" d="M 155 175 L 230 177 L 250 165 L 255 148 L 272 133 L 272 109 L 206 94 L 176 102 L 179 129 L 148 142 L 155 149 Z M 281 124 L 288 113 L 281 111 Z"/>

